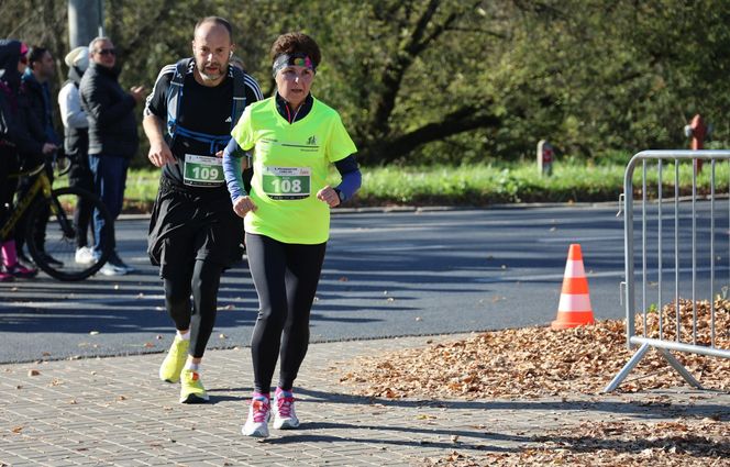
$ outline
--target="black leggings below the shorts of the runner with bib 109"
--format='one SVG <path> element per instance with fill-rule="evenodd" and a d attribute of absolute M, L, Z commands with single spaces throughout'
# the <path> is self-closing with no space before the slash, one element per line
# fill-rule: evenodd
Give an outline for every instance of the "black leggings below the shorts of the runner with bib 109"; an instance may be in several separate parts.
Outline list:
<path fill-rule="evenodd" d="M 165 273 L 165 305 L 178 331 L 190 330 L 189 354 L 193 358 L 202 358 L 213 332 L 222 273 L 223 266 L 206 260 Z"/>

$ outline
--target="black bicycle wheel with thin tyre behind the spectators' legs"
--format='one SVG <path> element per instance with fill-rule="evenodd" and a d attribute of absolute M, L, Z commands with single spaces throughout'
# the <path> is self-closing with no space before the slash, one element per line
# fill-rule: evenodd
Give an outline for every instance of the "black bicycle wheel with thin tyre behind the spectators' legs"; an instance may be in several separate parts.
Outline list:
<path fill-rule="evenodd" d="M 86 205 L 93 215 L 101 215 L 107 233 L 112 232 L 109 211 L 99 197 L 80 188 L 53 190 L 51 198 L 40 198 L 27 216 L 27 249 L 35 264 L 48 276 L 58 280 L 84 280 L 109 259 L 111 246 L 91 263 L 76 263 L 77 240 L 85 236 L 93 245 L 93 220 L 85 227 L 74 221 L 74 213 Z M 98 214 L 97 214 L 98 211 Z"/>

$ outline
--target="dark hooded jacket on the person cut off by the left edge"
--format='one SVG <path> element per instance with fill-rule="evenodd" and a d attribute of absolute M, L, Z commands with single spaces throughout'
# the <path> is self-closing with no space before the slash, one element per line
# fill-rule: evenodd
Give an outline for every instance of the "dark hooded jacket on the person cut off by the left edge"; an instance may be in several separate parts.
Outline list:
<path fill-rule="evenodd" d="M 20 41 L 0 40 L 0 145 L 20 154 L 43 155 L 44 137 L 21 89 Z M 40 136 L 40 137 L 38 137 Z"/>

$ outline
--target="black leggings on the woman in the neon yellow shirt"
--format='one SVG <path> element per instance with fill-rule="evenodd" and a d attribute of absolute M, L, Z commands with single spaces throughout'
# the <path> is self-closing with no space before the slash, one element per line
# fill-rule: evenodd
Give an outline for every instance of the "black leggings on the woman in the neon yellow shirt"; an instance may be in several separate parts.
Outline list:
<path fill-rule="evenodd" d="M 291 390 L 309 346 L 309 312 L 327 243 L 287 244 L 246 233 L 248 268 L 258 293 L 258 319 L 251 340 L 254 390 L 270 391 L 279 356 L 279 383 Z"/>

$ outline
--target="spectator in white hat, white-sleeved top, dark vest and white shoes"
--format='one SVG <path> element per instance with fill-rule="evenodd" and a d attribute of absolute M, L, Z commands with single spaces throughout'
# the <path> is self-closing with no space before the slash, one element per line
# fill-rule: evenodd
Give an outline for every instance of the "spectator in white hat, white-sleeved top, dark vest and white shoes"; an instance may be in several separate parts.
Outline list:
<path fill-rule="evenodd" d="M 71 167 L 68 171 L 68 184 L 71 187 L 93 190 L 93 174 L 89 168 L 89 122 L 81 109 L 78 87 L 84 73 L 89 67 L 89 48 L 80 46 L 69 52 L 64 62 L 68 65 L 68 80 L 58 92 L 60 120 L 64 122 L 64 149 Z M 93 262 L 93 249 L 88 247 L 87 232 L 93 207 L 80 202 L 74 213 L 76 226 L 76 263 Z"/>

